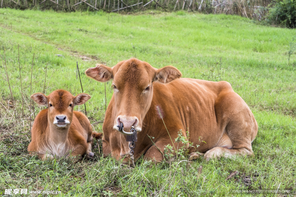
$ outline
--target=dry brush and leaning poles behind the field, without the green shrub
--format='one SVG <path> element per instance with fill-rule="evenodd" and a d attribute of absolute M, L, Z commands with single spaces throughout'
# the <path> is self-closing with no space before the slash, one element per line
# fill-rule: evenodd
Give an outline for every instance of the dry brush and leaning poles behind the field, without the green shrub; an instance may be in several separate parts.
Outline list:
<path fill-rule="evenodd" d="M 165 11 L 186 10 L 190 12 L 201 11 L 204 13 L 237 14 L 245 17 L 266 14 L 266 8 L 272 0 L 86 0 L 87 4 L 79 0 L 1 0 L 1 7 L 17 9 L 54 9 L 62 11 L 102 9 L 112 11 L 126 6 L 135 5 L 120 12 L 134 12 L 145 9 L 160 9 Z M 151 2 L 150 4 L 147 4 Z M 260 10 L 260 13 L 258 12 Z"/>

